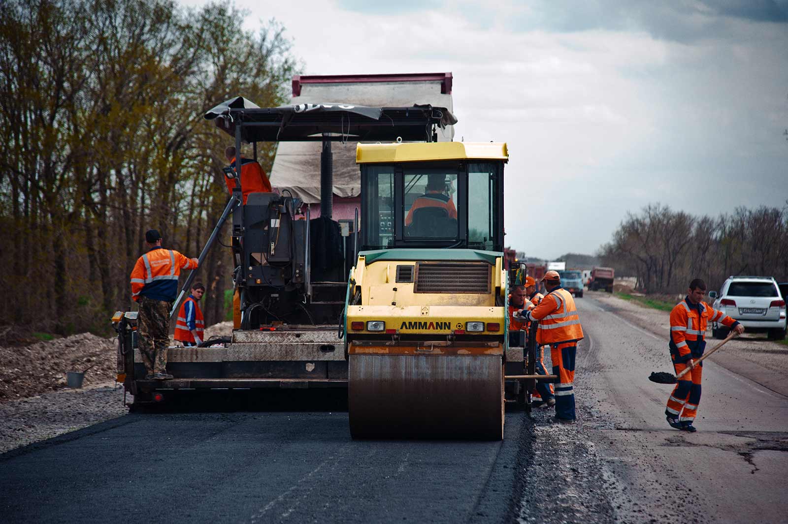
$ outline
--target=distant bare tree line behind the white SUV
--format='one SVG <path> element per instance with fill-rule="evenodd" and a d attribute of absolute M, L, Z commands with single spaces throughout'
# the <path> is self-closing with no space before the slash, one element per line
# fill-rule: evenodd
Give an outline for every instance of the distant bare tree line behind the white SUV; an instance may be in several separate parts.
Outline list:
<path fill-rule="evenodd" d="M 647 293 L 682 293 L 691 279 L 719 290 L 730 275 L 788 280 L 788 207 L 693 216 L 649 204 L 626 218 L 598 253 Z"/>

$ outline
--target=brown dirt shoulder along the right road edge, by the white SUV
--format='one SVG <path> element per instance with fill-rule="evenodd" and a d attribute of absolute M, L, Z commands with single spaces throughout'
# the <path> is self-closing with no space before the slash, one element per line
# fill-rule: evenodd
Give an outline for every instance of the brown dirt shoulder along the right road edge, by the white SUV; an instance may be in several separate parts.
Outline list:
<path fill-rule="evenodd" d="M 611 296 L 610 293 L 597 291 L 586 291 L 586 293 L 623 319 L 664 338 L 667 347 L 670 336 L 670 313 L 641 306 L 637 302 Z M 711 327 L 706 333 L 706 338 L 706 349 L 711 349 L 719 343 L 712 338 Z M 788 381 L 785 380 L 788 374 L 788 346 L 768 341 L 765 334 L 745 332 L 741 338 L 727 342 L 722 349 L 709 356 L 708 360 L 776 393 L 788 396 Z"/>

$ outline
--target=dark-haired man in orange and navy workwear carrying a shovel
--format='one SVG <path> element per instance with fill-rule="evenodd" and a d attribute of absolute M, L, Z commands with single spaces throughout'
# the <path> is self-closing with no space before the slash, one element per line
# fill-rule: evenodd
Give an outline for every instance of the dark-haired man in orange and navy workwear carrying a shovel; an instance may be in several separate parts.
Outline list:
<path fill-rule="evenodd" d="M 706 348 L 706 325 L 709 321 L 723 323 L 737 334 L 744 333 L 744 326 L 703 301 L 706 294 L 706 282 L 703 280 L 689 282 L 688 291 L 686 298 L 671 311 L 671 342 L 668 347 L 676 374 L 689 366 L 692 368 L 689 371 L 692 380 L 687 380 L 687 375 L 684 375 L 682 378 L 685 379 L 676 382 L 673 393 L 667 399 L 665 415 L 671 427 L 694 433 L 697 430 L 692 423 L 697 415 L 697 404 L 701 401 L 703 374 L 703 363 L 696 364 L 695 360 L 703 356 Z"/>

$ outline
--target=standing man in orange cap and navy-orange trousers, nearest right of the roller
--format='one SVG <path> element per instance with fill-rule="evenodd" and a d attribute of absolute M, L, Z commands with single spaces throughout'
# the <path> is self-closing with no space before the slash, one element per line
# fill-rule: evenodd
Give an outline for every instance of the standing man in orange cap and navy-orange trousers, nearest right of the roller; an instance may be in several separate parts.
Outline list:
<path fill-rule="evenodd" d="M 548 271 L 542 281 L 548 293 L 539 305 L 519 316 L 529 322 L 538 320 L 537 344 L 550 345 L 552 373 L 558 376 L 556 422 L 574 423 L 574 357 L 583 330 L 572 293 L 561 287 L 558 272 Z"/>

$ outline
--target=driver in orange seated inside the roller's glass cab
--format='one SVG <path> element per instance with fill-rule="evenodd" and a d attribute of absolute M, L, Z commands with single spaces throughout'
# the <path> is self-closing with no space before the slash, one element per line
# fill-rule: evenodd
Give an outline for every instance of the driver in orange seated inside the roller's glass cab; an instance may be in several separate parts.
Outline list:
<path fill-rule="evenodd" d="M 440 236 L 442 223 L 451 220 L 456 228 L 457 208 L 446 194 L 446 175 L 427 175 L 426 191 L 417 197 L 405 217 L 410 236 Z M 454 232 L 456 234 L 456 232 Z"/>

